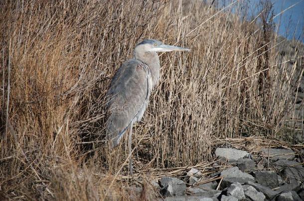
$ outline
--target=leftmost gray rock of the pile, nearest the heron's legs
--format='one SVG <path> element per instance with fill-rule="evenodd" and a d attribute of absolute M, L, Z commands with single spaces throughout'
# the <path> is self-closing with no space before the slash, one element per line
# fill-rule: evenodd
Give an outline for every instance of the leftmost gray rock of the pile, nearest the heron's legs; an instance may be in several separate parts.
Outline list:
<path fill-rule="evenodd" d="M 160 179 L 160 193 L 163 196 L 183 196 L 186 192 L 186 184 L 180 179 L 163 177 Z"/>

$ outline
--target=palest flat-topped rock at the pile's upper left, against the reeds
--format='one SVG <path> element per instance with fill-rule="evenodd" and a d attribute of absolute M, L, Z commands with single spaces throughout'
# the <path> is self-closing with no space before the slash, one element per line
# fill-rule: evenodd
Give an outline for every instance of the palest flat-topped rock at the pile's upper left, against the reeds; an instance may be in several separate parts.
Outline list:
<path fill-rule="evenodd" d="M 222 162 L 236 162 L 240 158 L 248 157 L 249 153 L 234 148 L 217 148 L 215 155 L 220 158 Z"/>

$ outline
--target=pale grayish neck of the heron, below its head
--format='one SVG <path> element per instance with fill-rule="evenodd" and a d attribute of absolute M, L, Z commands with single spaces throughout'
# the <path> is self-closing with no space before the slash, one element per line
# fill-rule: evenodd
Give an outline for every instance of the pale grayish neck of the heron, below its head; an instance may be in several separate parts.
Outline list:
<path fill-rule="evenodd" d="M 146 53 L 139 53 L 134 52 L 134 58 L 147 64 L 151 71 L 151 77 L 153 81 L 153 86 L 157 84 L 159 80 L 159 58 L 157 53 L 155 52 L 146 52 Z"/>

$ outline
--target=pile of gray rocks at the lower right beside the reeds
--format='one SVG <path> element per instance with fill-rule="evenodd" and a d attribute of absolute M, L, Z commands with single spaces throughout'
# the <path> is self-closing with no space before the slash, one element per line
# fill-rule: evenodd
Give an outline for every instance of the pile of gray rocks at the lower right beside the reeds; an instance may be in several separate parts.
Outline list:
<path fill-rule="evenodd" d="M 304 200 L 303 162 L 297 161 L 294 151 L 262 149 L 264 165 L 261 158 L 254 160 L 248 152 L 234 148 L 217 148 L 215 154 L 221 162 L 235 166 L 213 179 L 192 168 L 183 179 L 162 177 L 154 187 L 165 201 Z"/>

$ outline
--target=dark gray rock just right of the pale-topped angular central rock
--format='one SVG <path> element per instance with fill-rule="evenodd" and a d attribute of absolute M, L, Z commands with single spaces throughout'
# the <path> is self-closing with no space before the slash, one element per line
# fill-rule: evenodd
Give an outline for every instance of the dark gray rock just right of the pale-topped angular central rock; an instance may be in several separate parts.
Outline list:
<path fill-rule="evenodd" d="M 279 186 L 278 174 L 275 171 L 254 171 L 251 175 L 256 178 L 256 182 L 263 186 L 270 188 Z"/>

